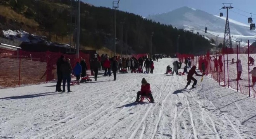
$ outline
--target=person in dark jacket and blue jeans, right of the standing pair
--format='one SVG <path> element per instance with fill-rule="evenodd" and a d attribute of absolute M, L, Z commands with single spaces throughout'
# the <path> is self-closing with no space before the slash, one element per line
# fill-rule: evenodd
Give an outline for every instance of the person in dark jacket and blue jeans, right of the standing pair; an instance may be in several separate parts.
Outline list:
<path fill-rule="evenodd" d="M 63 90 L 62 92 L 65 92 L 65 86 L 67 81 L 67 92 L 70 91 L 70 81 L 71 81 L 71 73 L 72 73 L 72 66 L 70 64 L 70 59 L 66 59 L 66 62 L 61 65 L 62 75 L 63 75 Z"/>

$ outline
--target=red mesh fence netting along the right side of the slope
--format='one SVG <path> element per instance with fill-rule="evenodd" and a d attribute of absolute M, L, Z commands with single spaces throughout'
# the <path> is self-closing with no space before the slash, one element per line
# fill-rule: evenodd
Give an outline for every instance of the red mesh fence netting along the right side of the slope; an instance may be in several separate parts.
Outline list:
<path fill-rule="evenodd" d="M 256 97 L 256 69 L 253 71 L 255 58 L 255 46 L 243 47 L 242 51 L 239 51 L 239 48 L 223 48 L 221 53 L 209 54 L 208 52 L 206 55 L 199 56 L 198 68 L 203 72 L 202 63 L 204 63 L 205 73 L 219 85 Z"/>

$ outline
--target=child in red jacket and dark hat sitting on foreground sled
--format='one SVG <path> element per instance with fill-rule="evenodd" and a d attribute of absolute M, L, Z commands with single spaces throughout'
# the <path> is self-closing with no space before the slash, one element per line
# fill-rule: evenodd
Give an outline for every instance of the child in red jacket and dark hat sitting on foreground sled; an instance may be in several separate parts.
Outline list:
<path fill-rule="evenodd" d="M 150 98 L 151 102 L 154 103 L 154 98 L 152 96 L 152 92 L 150 90 L 150 84 L 147 83 L 147 81 L 145 80 L 145 78 L 142 78 L 142 81 L 141 81 L 142 85 L 141 85 L 141 88 L 140 88 L 140 91 L 137 92 L 137 99 L 135 102 L 139 102 L 139 99 L 140 99 L 140 95 L 143 95 L 143 96 L 147 96 Z"/>

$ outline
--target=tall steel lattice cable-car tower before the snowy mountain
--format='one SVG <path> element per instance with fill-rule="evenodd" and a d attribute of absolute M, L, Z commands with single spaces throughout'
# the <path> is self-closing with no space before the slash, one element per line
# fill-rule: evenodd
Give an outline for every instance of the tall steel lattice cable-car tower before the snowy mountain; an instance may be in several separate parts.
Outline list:
<path fill-rule="evenodd" d="M 227 9 L 227 19 L 226 19 L 226 25 L 225 25 L 223 47 L 232 48 L 232 42 L 231 42 L 231 36 L 230 36 L 230 28 L 229 28 L 229 22 L 228 22 L 228 9 L 232 9 L 234 7 L 231 7 L 232 3 L 222 3 L 222 4 L 224 5 L 222 7 L 222 9 Z M 230 4 L 230 6 L 225 6 L 225 4 Z"/>

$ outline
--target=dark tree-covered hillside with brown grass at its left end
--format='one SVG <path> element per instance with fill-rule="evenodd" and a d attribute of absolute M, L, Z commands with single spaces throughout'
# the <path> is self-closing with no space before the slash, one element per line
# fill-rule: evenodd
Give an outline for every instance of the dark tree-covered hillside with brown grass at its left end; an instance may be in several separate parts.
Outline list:
<path fill-rule="evenodd" d="M 74 33 L 74 30 L 70 31 L 70 13 L 71 8 L 74 8 L 70 5 L 70 0 L 2 0 L 0 6 L 5 10 L 0 12 L 0 29 L 3 31 L 21 29 L 46 36 L 50 41 L 69 43 L 70 36 L 73 39 Z M 73 12 L 73 17 L 74 15 Z M 107 47 L 113 50 L 113 15 L 114 10 L 110 8 L 94 7 L 81 2 L 81 45 L 86 48 Z M 202 53 L 212 47 L 203 36 L 173 28 L 171 25 L 163 25 L 119 10 L 116 17 L 117 52 L 121 51 L 120 22 L 125 22 L 123 53 L 126 53 L 126 30 L 128 30 L 128 53 L 149 53 L 152 32 L 154 32 L 152 37 L 153 53 L 176 53 L 178 35 L 180 35 L 180 53 Z M 73 18 L 73 22 L 75 22 L 75 18 Z"/>

